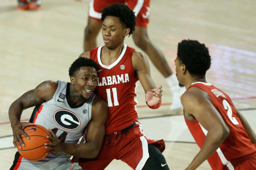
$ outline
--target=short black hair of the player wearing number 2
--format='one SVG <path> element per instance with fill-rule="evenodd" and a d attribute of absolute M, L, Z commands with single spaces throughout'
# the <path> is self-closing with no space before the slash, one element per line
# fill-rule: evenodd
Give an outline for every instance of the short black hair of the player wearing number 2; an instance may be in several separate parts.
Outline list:
<path fill-rule="evenodd" d="M 177 58 L 182 61 L 191 75 L 204 76 L 211 66 L 208 48 L 196 40 L 178 43 Z"/>

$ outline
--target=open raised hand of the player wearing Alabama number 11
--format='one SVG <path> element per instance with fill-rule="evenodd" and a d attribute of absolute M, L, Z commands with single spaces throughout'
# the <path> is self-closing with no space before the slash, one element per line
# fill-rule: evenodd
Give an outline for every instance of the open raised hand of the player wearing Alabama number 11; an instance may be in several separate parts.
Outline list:
<path fill-rule="evenodd" d="M 162 92 L 163 92 L 163 89 L 161 85 L 156 88 L 148 90 L 145 95 L 147 104 L 149 106 L 153 106 L 161 102 Z"/>

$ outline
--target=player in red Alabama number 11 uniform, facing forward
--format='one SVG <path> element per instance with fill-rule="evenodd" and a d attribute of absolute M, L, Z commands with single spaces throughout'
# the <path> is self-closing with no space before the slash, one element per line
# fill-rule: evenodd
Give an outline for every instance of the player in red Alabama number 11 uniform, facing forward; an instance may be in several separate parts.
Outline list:
<path fill-rule="evenodd" d="M 82 53 L 99 64 L 96 93 L 109 106 L 106 134 L 102 149 L 95 159 L 80 159 L 85 169 L 103 170 L 113 159 L 122 160 L 136 170 L 168 170 L 161 151 L 164 142 L 147 139 L 137 121 L 136 88 L 138 81 L 145 90 L 150 108 L 161 105 L 162 87 L 156 87 L 149 62 L 142 53 L 124 44 L 135 30 L 136 17 L 125 4 L 116 3 L 102 12 L 102 36 L 105 46 Z"/>

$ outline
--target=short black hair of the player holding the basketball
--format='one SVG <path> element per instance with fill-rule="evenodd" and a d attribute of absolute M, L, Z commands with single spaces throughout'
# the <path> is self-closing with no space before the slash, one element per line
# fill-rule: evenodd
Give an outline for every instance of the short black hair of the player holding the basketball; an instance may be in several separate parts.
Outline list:
<path fill-rule="evenodd" d="M 94 67 L 97 71 L 99 71 L 99 65 L 95 61 L 89 58 L 80 57 L 76 59 L 69 67 L 69 76 L 74 76 L 74 72 L 79 71 L 80 67 L 83 66 Z"/>

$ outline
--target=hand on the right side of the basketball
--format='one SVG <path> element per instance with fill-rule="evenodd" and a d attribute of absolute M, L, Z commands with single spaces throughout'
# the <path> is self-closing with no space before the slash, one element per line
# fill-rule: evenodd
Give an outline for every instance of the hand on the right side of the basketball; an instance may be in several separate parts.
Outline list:
<path fill-rule="evenodd" d="M 55 135 L 55 133 L 48 129 L 52 136 L 47 136 L 51 142 L 45 143 L 45 148 L 50 149 L 46 154 L 49 155 L 52 152 L 61 152 L 65 151 L 65 143 L 60 141 L 60 139 Z"/>

